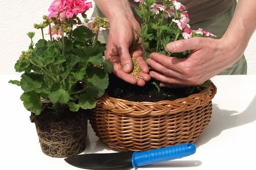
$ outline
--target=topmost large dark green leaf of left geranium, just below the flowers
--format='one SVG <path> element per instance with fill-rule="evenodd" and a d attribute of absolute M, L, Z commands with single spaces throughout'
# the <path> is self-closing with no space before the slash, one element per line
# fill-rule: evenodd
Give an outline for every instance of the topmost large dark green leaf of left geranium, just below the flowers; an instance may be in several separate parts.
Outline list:
<path fill-rule="evenodd" d="M 92 33 L 89 28 L 85 26 L 79 26 L 78 28 L 73 30 L 73 36 L 76 40 L 88 42 L 95 36 L 95 34 Z"/>

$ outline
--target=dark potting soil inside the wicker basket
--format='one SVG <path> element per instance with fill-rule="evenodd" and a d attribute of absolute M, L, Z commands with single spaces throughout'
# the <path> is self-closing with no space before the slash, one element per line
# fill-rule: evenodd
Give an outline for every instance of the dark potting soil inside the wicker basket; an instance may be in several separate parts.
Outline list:
<path fill-rule="evenodd" d="M 114 98 L 135 102 L 173 101 L 188 96 L 184 88 L 161 88 L 161 91 L 158 92 L 155 85 L 152 84 L 152 80 L 146 82 L 146 85 L 141 87 L 125 82 L 117 78 L 113 73 L 109 75 L 109 85 L 106 93 Z"/>

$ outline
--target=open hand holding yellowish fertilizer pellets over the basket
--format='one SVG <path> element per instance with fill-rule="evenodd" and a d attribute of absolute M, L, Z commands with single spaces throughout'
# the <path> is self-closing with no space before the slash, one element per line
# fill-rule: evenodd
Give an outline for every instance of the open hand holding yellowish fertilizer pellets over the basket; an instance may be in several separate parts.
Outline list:
<path fill-rule="evenodd" d="M 140 32 L 140 25 L 135 19 L 128 20 L 128 18 L 115 19 L 110 24 L 111 29 L 109 30 L 105 56 L 113 64 L 114 74 L 126 82 L 144 86 L 145 81 L 149 81 L 151 77 L 148 74 L 149 68 L 142 58 L 141 42 L 130 48 L 137 38 L 134 30 Z M 132 71 L 132 59 L 129 51 L 134 51 L 131 55 L 132 57 L 137 57 L 138 64 L 142 70 L 140 76 L 143 79 L 137 79 L 129 74 Z M 121 65 L 118 64 L 119 61 Z"/>

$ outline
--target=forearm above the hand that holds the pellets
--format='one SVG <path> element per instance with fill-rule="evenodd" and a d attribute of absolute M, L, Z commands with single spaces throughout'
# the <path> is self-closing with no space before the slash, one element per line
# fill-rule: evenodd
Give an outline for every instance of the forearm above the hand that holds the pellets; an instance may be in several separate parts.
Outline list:
<path fill-rule="evenodd" d="M 134 20 L 128 0 L 94 0 L 96 5 L 109 20 L 125 17 Z"/>

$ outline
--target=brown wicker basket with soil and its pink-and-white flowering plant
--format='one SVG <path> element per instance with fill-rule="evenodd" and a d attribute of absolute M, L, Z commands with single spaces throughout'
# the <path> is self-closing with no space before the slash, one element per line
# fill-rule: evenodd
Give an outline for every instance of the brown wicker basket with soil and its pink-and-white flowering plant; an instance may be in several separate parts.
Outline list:
<path fill-rule="evenodd" d="M 162 4 L 156 4 L 156 0 L 135 2 L 140 3 L 136 12 L 143 19 L 138 38 L 143 40 L 145 60 L 152 52 L 186 58 L 190 51 L 171 53 L 165 46 L 180 39 L 214 36 L 201 28 L 192 30 L 186 7 L 176 0 L 163 0 Z M 130 74 L 141 78 L 136 58 L 132 62 Z M 195 142 L 210 121 L 211 99 L 216 93 L 210 80 L 188 88 L 160 88 L 151 79 L 139 87 L 111 75 L 109 83 L 90 123 L 110 147 L 140 151 Z"/>

